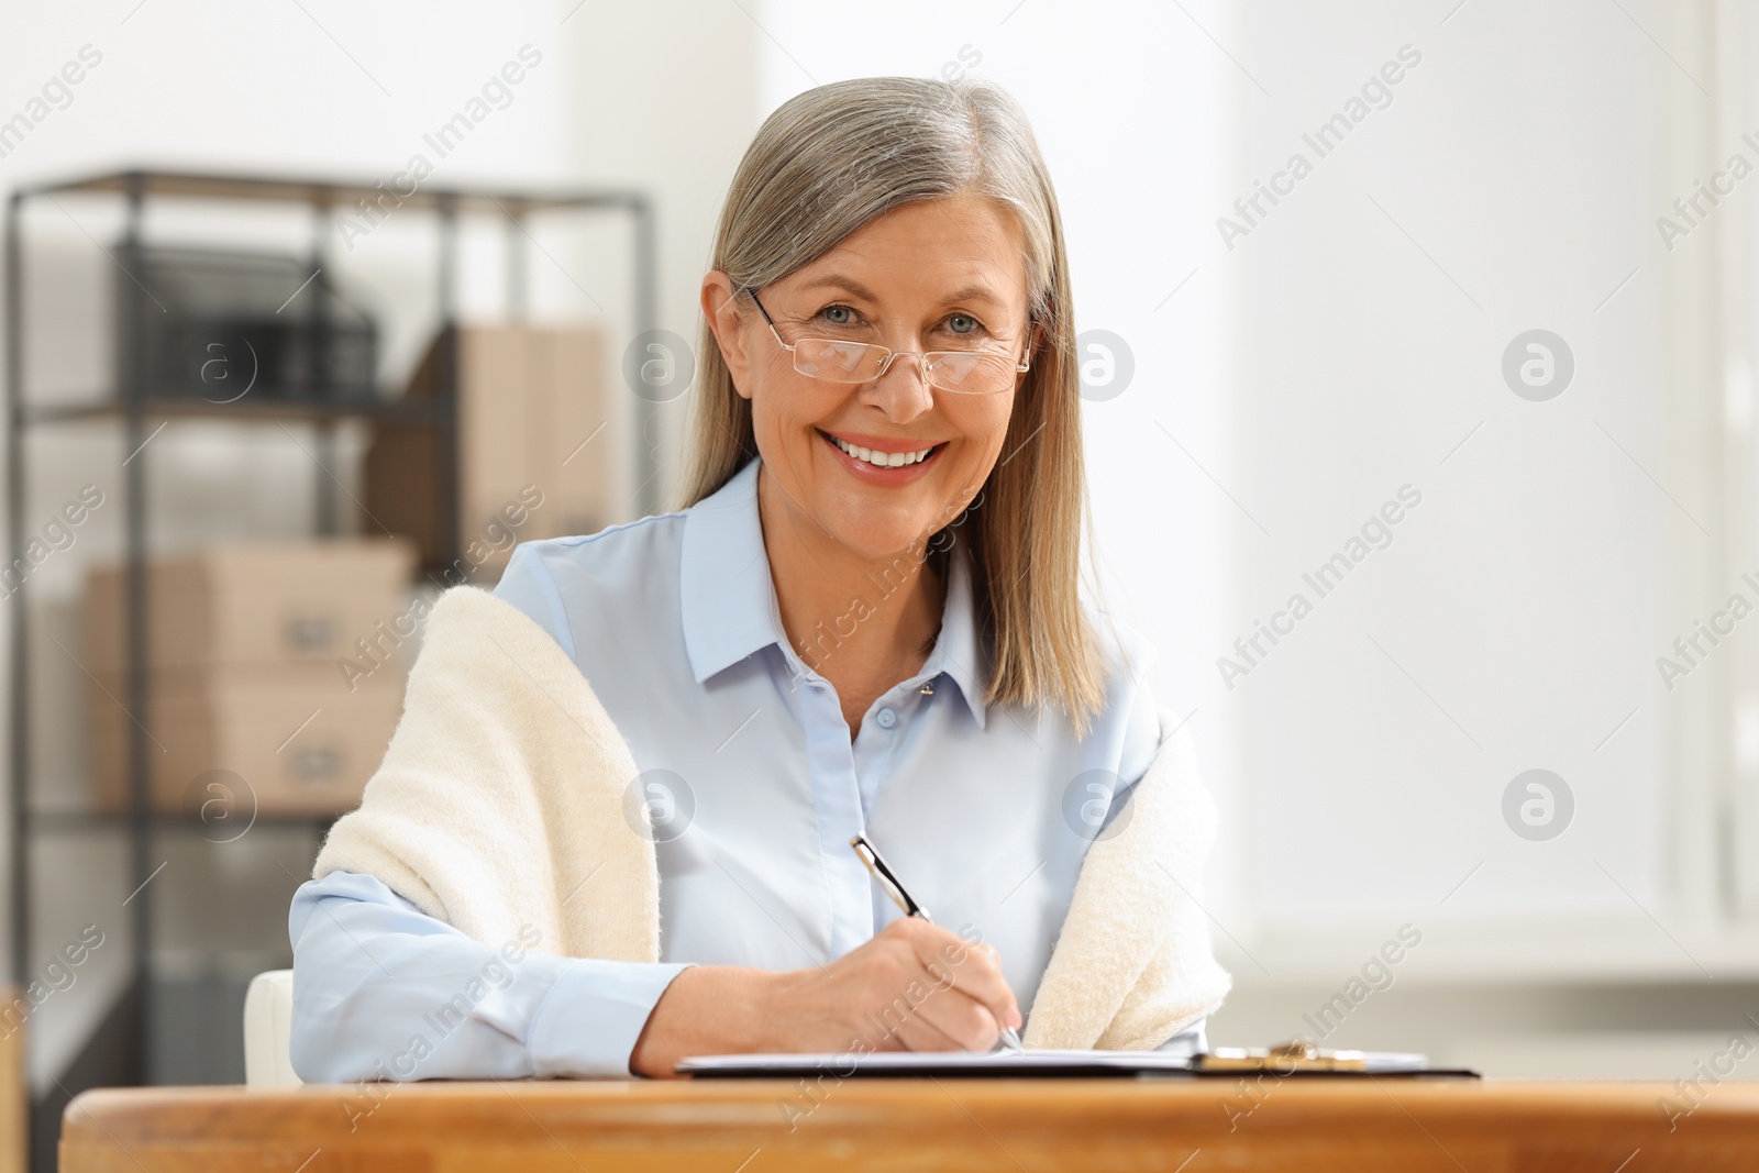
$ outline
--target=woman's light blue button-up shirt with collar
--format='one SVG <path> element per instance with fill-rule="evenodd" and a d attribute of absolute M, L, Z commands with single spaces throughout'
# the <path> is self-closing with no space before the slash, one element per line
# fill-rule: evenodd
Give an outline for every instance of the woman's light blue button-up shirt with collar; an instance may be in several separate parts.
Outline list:
<path fill-rule="evenodd" d="M 955 543 L 934 649 L 851 742 L 836 689 L 781 626 L 760 471 L 751 461 L 688 510 L 526 542 L 496 587 L 580 667 L 635 758 L 661 960 L 515 950 L 463 1022 L 434 1018 L 503 943 L 464 937 L 373 876 L 331 872 L 288 914 L 301 1078 L 626 1076 L 684 965 L 823 965 L 901 914 L 850 849 L 858 832 L 938 923 L 1001 951 L 1029 1013 L 1087 846 L 1157 747 L 1150 647 L 1096 623 L 1106 702 L 1085 739 L 1062 714 L 985 705 Z M 836 656 L 834 638 L 820 654 Z M 1166 1046 L 1201 1048 L 1203 1024 Z"/>

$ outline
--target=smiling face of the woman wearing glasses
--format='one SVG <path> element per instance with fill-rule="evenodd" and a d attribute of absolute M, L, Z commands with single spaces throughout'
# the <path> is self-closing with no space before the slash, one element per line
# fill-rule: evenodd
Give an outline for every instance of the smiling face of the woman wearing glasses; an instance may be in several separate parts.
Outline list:
<path fill-rule="evenodd" d="M 839 338 L 892 350 L 980 346 L 1027 361 L 1025 262 L 1013 215 L 974 195 L 920 200 L 876 218 L 813 264 L 756 290 L 783 339 Z M 922 362 L 897 355 L 867 383 L 793 369 L 748 294 L 725 273 L 704 280 L 734 387 L 751 401 L 770 501 L 864 557 L 897 554 L 950 524 L 1001 455 L 1025 373 L 996 394 L 929 387 Z M 869 454 L 927 452 L 899 468 Z M 892 457 L 880 457 L 890 464 Z"/>

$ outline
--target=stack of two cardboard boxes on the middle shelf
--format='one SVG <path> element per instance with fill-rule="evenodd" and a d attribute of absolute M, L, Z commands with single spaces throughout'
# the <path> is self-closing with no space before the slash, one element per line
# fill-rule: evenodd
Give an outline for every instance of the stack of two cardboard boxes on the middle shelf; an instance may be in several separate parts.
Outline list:
<path fill-rule="evenodd" d="M 151 802 L 225 820 L 359 804 L 403 710 L 422 608 L 405 538 L 252 542 L 148 572 L 146 712 L 128 712 L 125 573 L 86 584 L 99 805 L 128 805 L 128 730 L 148 732 Z M 204 814 L 206 812 L 206 814 Z"/>

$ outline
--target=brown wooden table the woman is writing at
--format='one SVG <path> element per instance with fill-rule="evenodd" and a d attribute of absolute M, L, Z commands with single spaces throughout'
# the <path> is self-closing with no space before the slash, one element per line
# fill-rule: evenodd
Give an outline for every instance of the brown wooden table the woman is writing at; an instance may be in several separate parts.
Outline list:
<path fill-rule="evenodd" d="M 1759 1083 L 843 1080 L 100 1089 L 63 1173 L 1759 1168 Z M 814 1103 L 816 1101 L 816 1103 Z"/>

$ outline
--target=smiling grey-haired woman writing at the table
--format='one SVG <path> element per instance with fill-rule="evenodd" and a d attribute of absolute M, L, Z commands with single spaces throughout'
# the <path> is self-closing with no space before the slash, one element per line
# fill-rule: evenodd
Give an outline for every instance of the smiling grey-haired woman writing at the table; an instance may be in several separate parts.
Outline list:
<path fill-rule="evenodd" d="M 434 607 L 294 897 L 296 1071 L 982 1050 L 1022 1006 L 1029 1046 L 1201 1048 L 1214 814 L 1145 644 L 1078 593 L 1068 259 L 1018 106 L 788 100 L 712 266 L 686 508 Z"/>

